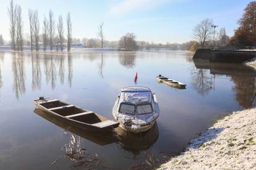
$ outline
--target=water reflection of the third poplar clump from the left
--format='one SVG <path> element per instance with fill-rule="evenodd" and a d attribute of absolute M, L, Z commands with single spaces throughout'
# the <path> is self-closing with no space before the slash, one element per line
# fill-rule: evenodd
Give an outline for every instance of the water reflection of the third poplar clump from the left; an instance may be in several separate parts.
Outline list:
<path fill-rule="evenodd" d="M 56 81 L 56 67 L 53 61 L 53 55 L 51 58 L 45 57 L 44 60 L 45 65 L 45 75 L 46 75 L 46 82 L 47 84 L 51 81 L 51 88 L 55 88 L 55 81 Z"/>

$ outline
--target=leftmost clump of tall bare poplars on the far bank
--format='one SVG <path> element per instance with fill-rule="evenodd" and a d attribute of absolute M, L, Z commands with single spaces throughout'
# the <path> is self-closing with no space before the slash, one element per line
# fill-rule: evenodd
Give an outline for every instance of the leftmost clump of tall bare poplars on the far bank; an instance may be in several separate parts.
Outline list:
<path fill-rule="evenodd" d="M 14 50 L 23 50 L 23 22 L 22 9 L 19 5 L 15 5 L 14 1 L 10 1 L 8 8 L 10 18 L 10 34 L 11 34 L 11 48 Z"/>

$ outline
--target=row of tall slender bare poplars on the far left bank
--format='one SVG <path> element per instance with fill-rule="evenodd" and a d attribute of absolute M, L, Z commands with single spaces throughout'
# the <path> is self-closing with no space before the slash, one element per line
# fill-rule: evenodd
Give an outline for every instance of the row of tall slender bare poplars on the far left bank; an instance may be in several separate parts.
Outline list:
<path fill-rule="evenodd" d="M 8 7 L 8 14 L 10 19 L 10 35 L 11 35 L 11 49 L 14 51 L 22 51 L 24 38 L 23 38 L 23 20 L 22 9 L 19 5 L 10 1 Z M 70 13 L 66 17 L 67 34 L 64 36 L 64 22 L 62 15 L 59 15 L 58 21 L 54 19 L 53 11 L 49 10 L 48 17 L 45 16 L 43 20 L 42 33 L 40 34 L 40 20 L 38 17 L 38 10 L 28 9 L 28 20 L 30 27 L 30 50 L 40 50 L 40 36 L 42 39 L 43 50 L 46 51 L 47 47 L 52 51 L 59 49 L 64 50 L 64 42 L 67 42 L 67 51 L 70 51 L 72 44 L 72 21 Z M 57 30 L 57 33 L 55 31 Z"/>

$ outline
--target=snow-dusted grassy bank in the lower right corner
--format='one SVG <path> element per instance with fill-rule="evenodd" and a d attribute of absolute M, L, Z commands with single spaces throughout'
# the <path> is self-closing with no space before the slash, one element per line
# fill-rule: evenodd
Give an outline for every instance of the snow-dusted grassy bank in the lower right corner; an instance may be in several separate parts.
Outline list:
<path fill-rule="evenodd" d="M 255 169 L 256 108 L 234 112 L 160 169 Z"/>

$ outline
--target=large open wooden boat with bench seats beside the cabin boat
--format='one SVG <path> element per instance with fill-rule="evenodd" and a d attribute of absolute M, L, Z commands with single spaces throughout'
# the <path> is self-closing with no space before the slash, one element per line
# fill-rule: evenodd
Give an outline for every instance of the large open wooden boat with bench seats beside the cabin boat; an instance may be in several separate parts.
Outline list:
<path fill-rule="evenodd" d="M 119 125 L 119 123 L 93 113 L 93 111 L 83 110 L 58 99 L 40 97 L 33 102 L 36 107 L 51 113 L 56 118 L 61 118 L 63 121 L 80 126 L 87 131 L 111 131 Z"/>

